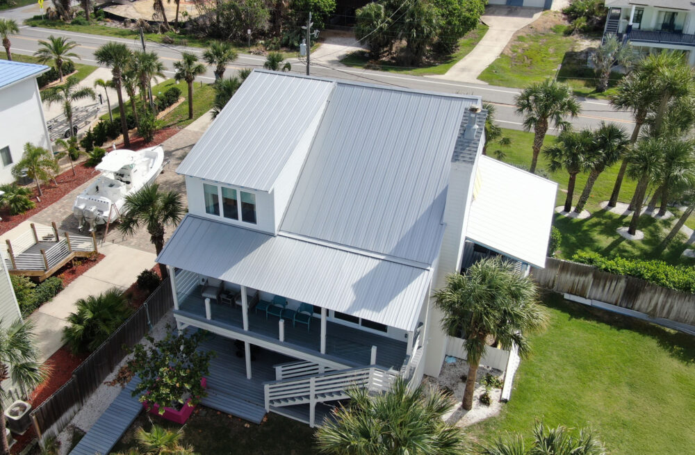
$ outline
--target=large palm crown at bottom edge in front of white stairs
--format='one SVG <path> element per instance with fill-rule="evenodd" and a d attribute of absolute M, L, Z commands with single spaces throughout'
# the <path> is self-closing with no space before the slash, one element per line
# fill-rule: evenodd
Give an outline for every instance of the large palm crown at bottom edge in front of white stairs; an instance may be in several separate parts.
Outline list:
<path fill-rule="evenodd" d="M 391 390 L 370 395 L 350 390 L 350 403 L 338 406 L 334 420 L 316 431 L 318 450 L 334 455 L 459 455 L 464 432 L 443 420 L 453 404 L 441 390 L 409 390 L 396 379 Z"/>

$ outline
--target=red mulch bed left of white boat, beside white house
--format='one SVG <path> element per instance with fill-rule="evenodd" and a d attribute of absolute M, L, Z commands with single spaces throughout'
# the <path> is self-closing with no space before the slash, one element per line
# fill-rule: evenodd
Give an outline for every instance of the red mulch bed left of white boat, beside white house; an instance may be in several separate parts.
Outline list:
<path fill-rule="evenodd" d="M 10 210 L 3 208 L 0 210 L 0 234 L 6 233 L 13 227 L 17 226 L 19 223 L 27 220 L 29 217 L 39 213 L 44 208 L 47 208 L 54 202 L 58 201 L 61 197 L 67 195 L 79 185 L 82 185 L 92 177 L 97 175 L 93 167 L 86 167 L 83 164 L 75 165 L 76 176 L 72 175 L 72 169 L 67 169 L 56 177 L 58 186 L 56 186 L 53 181 L 50 181 L 46 185 L 41 185 L 41 190 L 43 191 L 43 196 L 41 201 L 34 200 L 36 202 L 36 207 L 31 210 L 27 210 L 22 213 L 22 215 L 10 215 Z M 36 184 L 32 183 L 29 188 L 33 189 L 34 197 L 38 196 L 38 191 L 36 190 Z"/>

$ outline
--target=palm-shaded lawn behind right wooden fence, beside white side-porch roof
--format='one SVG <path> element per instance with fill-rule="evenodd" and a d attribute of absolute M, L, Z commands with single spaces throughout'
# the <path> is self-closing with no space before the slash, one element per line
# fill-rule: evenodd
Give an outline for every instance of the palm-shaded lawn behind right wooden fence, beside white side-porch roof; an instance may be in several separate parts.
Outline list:
<path fill-rule="evenodd" d="M 503 129 L 503 134 L 512 140 L 512 145 L 509 147 L 500 147 L 498 144 L 489 144 L 488 154 L 495 156 L 494 151 L 502 150 L 506 156 L 503 158 L 505 163 L 514 165 L 524 165 L 528 167 L 531 163 L 533 133 L 525 131 Z M 546 135 L 544 145 L 547 147 L 552 145 L 556 140 L 555 136 Z M 546 170 L 548 161 L 541 156 L 539 157 L 539 169 Z M 649 216 L 640 217 L 639 229 L 644 231 L 645 239 L 642 241 L 632 242 L 623 239 L 616 233 L 616 229 L 621 226 L 628 226 L 630 217 L 621 217 L 605 210 L 600 210 L 599 203 L 607 201 L 613 190 L 616 176 L 618 174 L 620 164 L 616 164 L 609 169 L 606 169 L 603 174 L 600 174 L 598 180 L 594 184 L 594 189 L 591 191 L 591 196 L 587 202 L 586 209 L 592 213 L 592 216 L 587 220 L 573 220 L 561 215 L 555 215 L 554 224 L 562 232 L 562 247 L 558 256 L 560 258 L 571 258 L 577 251 L 596 251 L 600 254 L 613 256 L 619 254 L 626 258 L 658 258 L 665 260 L 671 264 L 687 264 L 693 265 L 695 261 L 692 259 L 682 258 L 680 254 L 685 249 L 685 235 L 679 234 L 676 239 L 671 242 L 669 249 L 664 252 L 664 255 L 658 256 L 655 253 L 655 248 L 666 235 L 669 227 L 675 221 L 670 220 L 655 220 Z M 547 170 L 546 170 L 547 172 Z M 547 172 L 550 179 L 558 183 L 557 206 L 564 204 L 567 196 L 566 188 L 569 180 L 569 174 L 564 171 Z M 573 201 L 576 203 L 584 189 L 588 174 L 580 174 L 577 177 Z M 632 194 L 635 192 L 635 181 L 629 179 L 623 180 L 619 200 L 629 202 Z M 671 211 L 680 215 L 678 210 L 670 208 Z M 695 217 L 690 217 L 689 223 L 695 224 Z"/>

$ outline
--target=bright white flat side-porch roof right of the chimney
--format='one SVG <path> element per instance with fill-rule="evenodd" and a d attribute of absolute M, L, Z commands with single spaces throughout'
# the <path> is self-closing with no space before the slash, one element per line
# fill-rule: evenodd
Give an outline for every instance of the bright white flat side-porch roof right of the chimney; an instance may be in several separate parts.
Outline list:
<path fill-rule="evenodd" d="M 557 183 L 481 156 L 466 237 L 521 262 L 545 267 Z"/>

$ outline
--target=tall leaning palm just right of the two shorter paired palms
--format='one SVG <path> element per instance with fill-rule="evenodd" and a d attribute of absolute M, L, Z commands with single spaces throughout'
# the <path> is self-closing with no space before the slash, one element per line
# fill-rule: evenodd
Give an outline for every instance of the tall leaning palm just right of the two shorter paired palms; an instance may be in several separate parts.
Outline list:
<path fill-rule="evenodd" d="M 632 129 L 630 144 L 635 144 L 635 142 L 637 142 L 639 131 L 646 121 L 651 106 L 653 106 L 657 99 L 658 94 L 654 90 L 654 84 L 651 78 L 641 71 L 640 65 L 638 65 L 634 72 L 623 78 L 618 85 L 616 94 L 610 97 L 610 104 L 614 108 L 630 110 L 632 111 L 632 116 L 635 117 L 635 128 Z M 620 188 L 623 185 L 626 169 L 628 169 L 628 160 L 623 159 L 608 201 L 609 207 L 615 207 L 618 203 Z"/>

